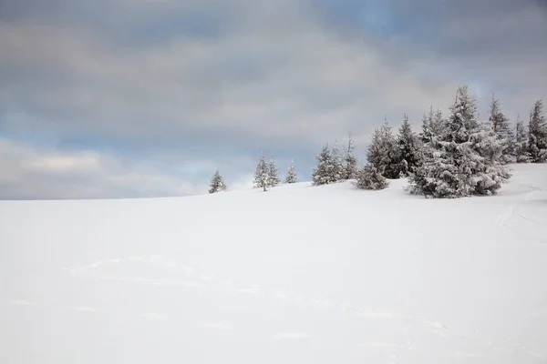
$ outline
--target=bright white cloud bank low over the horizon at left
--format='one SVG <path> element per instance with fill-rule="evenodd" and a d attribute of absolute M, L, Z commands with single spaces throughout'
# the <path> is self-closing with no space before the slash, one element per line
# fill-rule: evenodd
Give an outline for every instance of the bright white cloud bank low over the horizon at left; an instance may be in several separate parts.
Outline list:
<path fill-rule="evenodd" d="M 163 197 L 206 192 L 206 185 L 129 167 L 97 152 L 59 152 L 0 139 L 3 198 Z"/>

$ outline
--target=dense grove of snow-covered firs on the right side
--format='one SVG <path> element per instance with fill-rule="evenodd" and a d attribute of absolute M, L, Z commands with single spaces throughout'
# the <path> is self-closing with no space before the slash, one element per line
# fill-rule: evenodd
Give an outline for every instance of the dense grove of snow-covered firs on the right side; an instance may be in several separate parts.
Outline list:
<path fill-rule="evenodd" d="M 352 155 L 351 137 L 346 164 L 336 144 L 332 149 L 325 146 L 316 157 L 313 183 L 325 185 L 355 178 L 358 188 L 382 189 L 387 187 L 387 178 L 408 177 L 408 192 L 427 197 L 494 194 L 511 177 L 504 165 L 546 161 L 547 122 L 542 106 L 542 100 L 533 106 L 528 132 L 518 119 L 513 133 L 498 99 L 492 97 L 490 117 L 480 121 L 468 86 L 459 86 L 449 116 L 444 118 L 431 106 L 418 135 L 412 131 L 408 116 L 404 116 L 397 136 L 385 121 L 375 130 L 366 152 L 366 166 L 360 170 Z"/>

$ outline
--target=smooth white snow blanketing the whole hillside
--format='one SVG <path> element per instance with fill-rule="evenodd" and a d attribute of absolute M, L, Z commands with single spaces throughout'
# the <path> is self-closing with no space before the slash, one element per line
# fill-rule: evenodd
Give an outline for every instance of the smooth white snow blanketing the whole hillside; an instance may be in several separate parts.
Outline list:
<path fill-rule="evenodd" d="M 494 197 L 0 202 L 0 362 L 545 363 L 547 165 L 511 168 Z"/>

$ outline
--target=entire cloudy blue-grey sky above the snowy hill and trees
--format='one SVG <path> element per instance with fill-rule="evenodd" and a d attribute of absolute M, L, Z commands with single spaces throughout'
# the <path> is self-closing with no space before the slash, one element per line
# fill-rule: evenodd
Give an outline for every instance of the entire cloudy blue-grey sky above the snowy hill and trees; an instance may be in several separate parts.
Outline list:
<path fill-rule="evenodd" d="M 183 196 L 261 152 L 309 180 L 461 83 L 547 99 L 543 0 L 0 0 L 0 198 Z"/>

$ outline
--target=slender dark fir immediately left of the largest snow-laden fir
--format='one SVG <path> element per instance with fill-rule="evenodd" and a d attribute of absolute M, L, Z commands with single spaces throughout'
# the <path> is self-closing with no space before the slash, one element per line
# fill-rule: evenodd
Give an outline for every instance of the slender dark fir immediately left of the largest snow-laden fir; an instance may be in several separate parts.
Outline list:
<path fill-rule="evenodd" d="M 407 114 L 405 114 L 403 125 L 398 130 L 397 147 L 399 148 L 398 171 L 400 175 L 407 177 L 408 173 L 413 172 L 422 160 L 420 140 L 412 131 Z"/>

